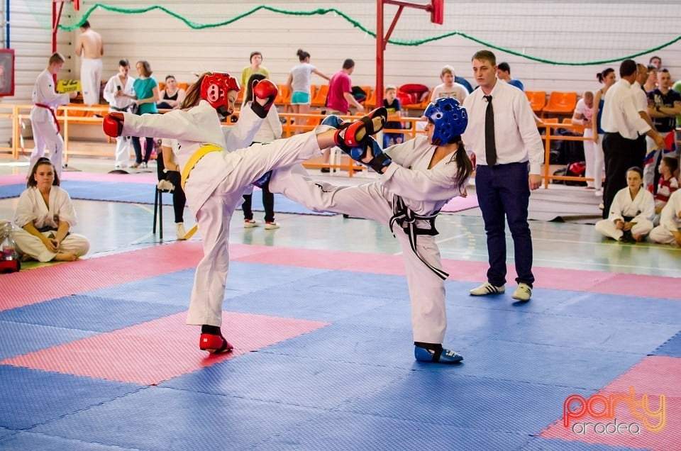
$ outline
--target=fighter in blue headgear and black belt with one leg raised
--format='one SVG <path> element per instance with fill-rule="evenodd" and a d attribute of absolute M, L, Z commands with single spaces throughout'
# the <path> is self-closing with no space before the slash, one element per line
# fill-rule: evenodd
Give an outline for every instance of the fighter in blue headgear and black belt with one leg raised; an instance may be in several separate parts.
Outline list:
<path fill-rule="evenodd" d="M 463 357 L 444 349 L 447 328 L 445 284 L 435 218 L 450 199 L 465 193 L 472 164 L 461 142 L 468 116 L 456 99 L 438 99 L 426 108 L 426 135 L 388 147 L 370 136 L 341 145 L 353 160 L 381 174 L 359 186 L 333 186 L 311 179 L 299 165 L 272 172 L 270 191 L 314 211 L 345 213 L 387 225 L 402 246 L 411 298 L 414 356 L 422 362 L 456 363 Z M 342 130 L 336 116 L 323 123 Z M 370 124 L 367 125 L 370 128 Z M 402 229 L 402 231 L 399 231 Z"/>

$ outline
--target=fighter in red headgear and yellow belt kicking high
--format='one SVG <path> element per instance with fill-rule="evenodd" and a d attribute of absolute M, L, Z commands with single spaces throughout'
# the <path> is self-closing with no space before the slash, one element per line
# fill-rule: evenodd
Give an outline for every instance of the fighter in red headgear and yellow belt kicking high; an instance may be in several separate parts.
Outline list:
<path fill-rule="evenodd" d="M 347 128 L 318 126 L 309 133 L 268 144 L 253 142 L 255 132 L 277 97 L 270 80 L 253 84 L 253 104 L 240 112 L 235 126 L 221 126 L 231 115 L 239 91 L 234 77 L 207 72 L 187 90 L 181 109 L 165 114 L 109 113 L 104 133 L 109 136 L 158 136 L 179 143 L 178 167 L 187 205 L 194 213 L 204 243 L 196 267 L 187 324 L 201 325 L 199 347 L 211 353 L 228 352 L 232 345 L 221 332 L 222 304 L 229 266 L 229 224 L 249 184 L 269 176 L 270 169 L 291 166 L 333 145 L 361 145 L 379 131 L 387 112 L 378 108 Z"/>

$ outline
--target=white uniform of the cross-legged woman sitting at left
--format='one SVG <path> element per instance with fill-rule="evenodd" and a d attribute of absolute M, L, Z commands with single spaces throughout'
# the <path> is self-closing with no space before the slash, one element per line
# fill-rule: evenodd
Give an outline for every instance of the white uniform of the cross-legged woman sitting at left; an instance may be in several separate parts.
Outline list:
<path fill-rule="evenodd" d="M 76 225 L 76 211 L 71 203 L 71 197 L 59 186 L 50 188 L 50 208 L 45 205 L 43 195 L 38 188 L 32 186 L 19 196 L 14 213 L 14 240 L 19 252 L 26 254 L 40 262 L 49 262 L 55 258 L 57 252 L 50 252 L 45 244 L 35 235 L 31 235 L 23 226 L 33 223 L 35 228 L 46 237 L 54 238 L 60 221 L 69 223 L 70 228 Z M 69 233 L 60 244 L 60 252 L 70 252 L 77 257 L 85 255 L 90 248 L 90 242 L 83 235 Z"/>

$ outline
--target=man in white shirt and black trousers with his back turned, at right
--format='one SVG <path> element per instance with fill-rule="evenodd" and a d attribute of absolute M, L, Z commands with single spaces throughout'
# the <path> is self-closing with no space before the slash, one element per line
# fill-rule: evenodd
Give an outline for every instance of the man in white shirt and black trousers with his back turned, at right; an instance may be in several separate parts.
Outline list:
<path fill-rule="evenodd" d="M 610 213 L 610 205 L 617 191 L 626 186 L 626 171 L 641 167 L 641 145 L 638 135 L 648 135 L 655 145 L 665 147 L 665 140 L 638 114 L 631 84 L 636 80 L 637 67 L 634 60 L 624 60 L 619 65 L 619 82 L 605 94 L 601 125 L 605 132 L 603 153 L 605 155 L 605 186 L 603 188 L 603 218 Z"/>

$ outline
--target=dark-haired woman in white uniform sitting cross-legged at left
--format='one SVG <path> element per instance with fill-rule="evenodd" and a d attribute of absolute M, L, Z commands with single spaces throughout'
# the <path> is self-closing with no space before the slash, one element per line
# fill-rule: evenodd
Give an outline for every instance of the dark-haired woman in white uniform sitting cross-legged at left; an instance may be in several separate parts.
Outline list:
<path fill-rule="evenodd" d="M 87 238 L 69 231 L 76 225 L 76 212 L 69 194 L 59 183 L 50 159 L 40 158 L 14 213 L 18 226 L 14 240 L 23 260 L 72 262 L 90 248 Z"/>

